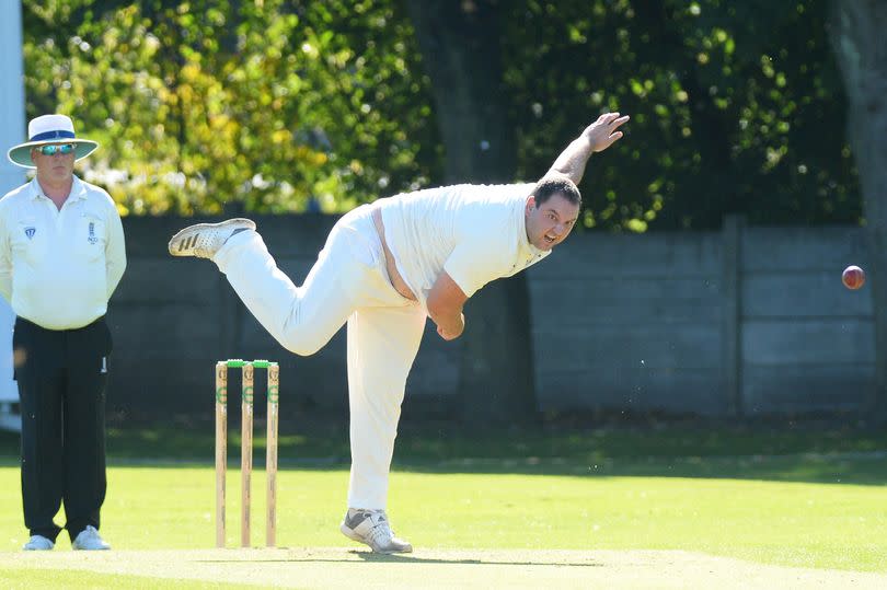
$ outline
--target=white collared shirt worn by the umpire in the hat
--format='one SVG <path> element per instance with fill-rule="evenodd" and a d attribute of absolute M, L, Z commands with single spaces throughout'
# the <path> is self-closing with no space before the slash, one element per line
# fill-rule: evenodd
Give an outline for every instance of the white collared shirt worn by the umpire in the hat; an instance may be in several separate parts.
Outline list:
<path fill-rule="evenodd" d="M 107 311 L 126 268 L 111 196 L 73 177 L 58 209 L 36 178 L 0 199 L 0 294 L 47 329 L 83 327 Z"/>

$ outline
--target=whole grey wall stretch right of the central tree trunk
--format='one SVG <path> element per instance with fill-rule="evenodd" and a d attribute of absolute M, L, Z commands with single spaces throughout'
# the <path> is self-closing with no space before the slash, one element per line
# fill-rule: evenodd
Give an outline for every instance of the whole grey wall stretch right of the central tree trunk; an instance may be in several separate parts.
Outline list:
<path fill-rule="evenodd" d="M 872 301 L 840 275 L 866 262 L 853 228 L 728 219 L 718 233 L 572 238 L 531 271 L 540 404 L 709 415 L 859 408 L 874 387 Z"/>

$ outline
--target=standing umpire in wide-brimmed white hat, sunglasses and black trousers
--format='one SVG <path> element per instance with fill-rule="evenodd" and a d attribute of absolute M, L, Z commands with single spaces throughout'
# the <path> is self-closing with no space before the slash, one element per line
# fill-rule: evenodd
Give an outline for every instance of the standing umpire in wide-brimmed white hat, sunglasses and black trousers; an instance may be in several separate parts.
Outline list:
<path fill-rule="evenodd" d="M 126 267 L 123 225 L 102 188 L 73 174 L 99 144 L 71 119 L 44 115 L 9 150 L 36 169 L 0 199 L 0 294 L 15 312 L 14 375 L 22 414 L 22 506 L 31 540 L 47 551 L 64 502 L 74 549 L 111 548 L 99 534 L 105 499 L 107 300 Z"/>

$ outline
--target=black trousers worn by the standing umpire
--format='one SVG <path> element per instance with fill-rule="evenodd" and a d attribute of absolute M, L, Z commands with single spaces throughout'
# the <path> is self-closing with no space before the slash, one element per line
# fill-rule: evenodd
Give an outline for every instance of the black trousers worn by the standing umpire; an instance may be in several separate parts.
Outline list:
<path fill-rule="evenodd" d="M 15 320 L 14 378 L 22 413 L 22 505 L 31 534 L 56 540 L 99 529 L 105 500 L 105 386 L 111 332 L 104 317 L 53 331 Z"/>

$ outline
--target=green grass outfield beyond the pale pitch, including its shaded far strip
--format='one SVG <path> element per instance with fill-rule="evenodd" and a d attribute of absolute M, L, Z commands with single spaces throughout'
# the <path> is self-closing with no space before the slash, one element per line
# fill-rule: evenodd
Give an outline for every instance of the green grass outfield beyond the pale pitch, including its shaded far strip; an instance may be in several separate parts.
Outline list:
<path fill-rule="evenodd" d="M 199 431 L 112 431 L 102 513 L 111 553 L 212 547 L 212 437 Z M 680 427 L 494 433 L 480 441 L 440 430 L 404 432 L 395 452 L 390 516 L 417 557 L 423 549 L 479 555 L 681 551 L 771 566 L 887 574 L 885 438 L 855 430 Z M 261 447 L 261 439 L 256 442 Z M 360 548 L 337 530 L 348 481 L 346 443 L 341 432 L 281 437 L 278 546 L 341 547 L 331 551 L 345 562 Z M 232 547 L 240 522 L 237 444 L 231 441 L 228 479 Z M 0 551 L 10 557 L 0 553 L 0 577 L 30 580 L 33 588 L 50 564 L 12 558 L 22 555 L 26 541 L 14 447 L 14 438 L 0 438 L 5 456 Z M 263 460 L 257 449 L 256 466 Z M 256 546 L 264 539 L 263 486 L 257 468 Z M 55 553 L 69 553 L 67 537 L 59 540 Z M 575 566 L 577 557 L 569 555 Z M 130 577 L 96 587 L 155 587 Z M 200 588 L 204 582 L 182 583 Z"/>

